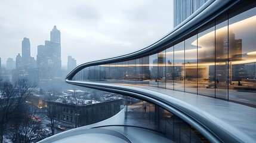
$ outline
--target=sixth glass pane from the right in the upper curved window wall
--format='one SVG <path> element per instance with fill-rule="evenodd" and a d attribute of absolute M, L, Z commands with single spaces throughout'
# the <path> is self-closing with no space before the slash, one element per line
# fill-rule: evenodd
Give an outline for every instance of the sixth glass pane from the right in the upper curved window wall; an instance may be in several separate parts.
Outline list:
<path fill-rule="evenodd" d="M 174 53 L 173 46 L 166 49 L 166 88 L 174 89 Z"/>

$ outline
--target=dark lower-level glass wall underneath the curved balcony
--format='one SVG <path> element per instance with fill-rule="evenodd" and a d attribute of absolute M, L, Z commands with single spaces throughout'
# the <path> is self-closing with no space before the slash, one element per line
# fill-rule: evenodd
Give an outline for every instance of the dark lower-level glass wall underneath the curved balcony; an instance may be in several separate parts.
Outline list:
<path fill-rule="evenodd" d="M 209 142 L 180 117 L 150 102 L 127 97 L 125 125 L 165 133 L 174 142 Z"/>

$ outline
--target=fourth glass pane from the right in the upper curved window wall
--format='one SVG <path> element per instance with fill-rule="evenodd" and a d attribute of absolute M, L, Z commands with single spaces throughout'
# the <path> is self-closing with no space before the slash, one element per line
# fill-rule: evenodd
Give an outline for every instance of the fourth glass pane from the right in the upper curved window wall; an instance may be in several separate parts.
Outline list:
<path fill-rule="evenodd" d="M 198 88 L 198 42 L 197 35 L 185 40 L 185 91 L 197 94 Z"/>

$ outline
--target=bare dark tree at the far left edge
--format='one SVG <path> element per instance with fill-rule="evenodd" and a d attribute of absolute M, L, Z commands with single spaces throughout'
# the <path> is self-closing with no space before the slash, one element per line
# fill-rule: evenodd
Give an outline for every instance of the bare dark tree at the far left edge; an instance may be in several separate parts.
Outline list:
<path fill-rule="evenodd" d="M 4 132 L 13 115 L 26 98 L 35 90 L 36 85 L 26 79 L 15 83 L 0 80 L 0 142 L 4 142 Z"/>

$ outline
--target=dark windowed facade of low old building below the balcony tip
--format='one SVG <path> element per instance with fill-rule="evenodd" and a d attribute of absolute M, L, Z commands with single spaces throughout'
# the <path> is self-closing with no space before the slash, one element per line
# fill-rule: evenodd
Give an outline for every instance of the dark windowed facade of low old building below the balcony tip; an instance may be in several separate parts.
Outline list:
<path fill-rule="evenodd" d="M 123 99 L 109 100 L 94 104 L 75 105 L 60 102 L 47 102 L 47 107 L 55 111 L 55 117 L 77 126 L 90 125 L 114 116 L 121 110 Z"/>

